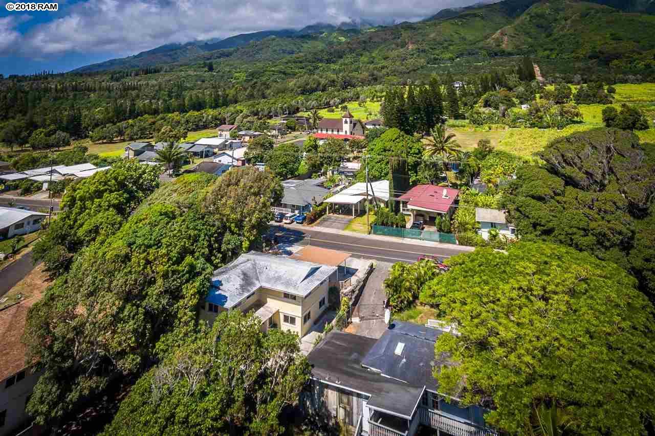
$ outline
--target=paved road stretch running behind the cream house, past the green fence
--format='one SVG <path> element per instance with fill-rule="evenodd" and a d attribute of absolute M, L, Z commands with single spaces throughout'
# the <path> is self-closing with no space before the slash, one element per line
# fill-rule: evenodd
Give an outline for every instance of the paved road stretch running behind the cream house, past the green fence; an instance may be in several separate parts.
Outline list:
<path fill-rule="evenodd" d="M 411 244 L 403 242 L 390 242 L 379 240 L 365 235 L 344 235 L 339 233 L 328 233 L 311 230 L 307 227 L 282 227 L 271 226 L 271 231 L 276 234 L 280 242 L 299 245 L 315 245 L 317 247 L 329 248 L 350 253 L 353 257 L 360 259 L 375 259 L 384 262 L 407 262 L 414 263 L 420 255 L 433 255 L 439 257 L 451 257 L 460 253 L 470 251 L 470 247 L 431 247 L 426 245 Z"/>

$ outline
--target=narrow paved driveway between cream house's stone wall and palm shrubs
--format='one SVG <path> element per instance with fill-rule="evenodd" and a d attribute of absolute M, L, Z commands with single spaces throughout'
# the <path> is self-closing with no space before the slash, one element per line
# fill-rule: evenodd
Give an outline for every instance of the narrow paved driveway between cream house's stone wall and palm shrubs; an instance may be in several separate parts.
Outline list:
<path fill-rule="evenodd" d="M 353 316 L 360 322 L 348 326 L 348 332 L 356 335 L 379 338 L 386 330 L 384 323 L 384 280 L 389 276 L 392 263 L 377 262 L 369 276 Z"/>

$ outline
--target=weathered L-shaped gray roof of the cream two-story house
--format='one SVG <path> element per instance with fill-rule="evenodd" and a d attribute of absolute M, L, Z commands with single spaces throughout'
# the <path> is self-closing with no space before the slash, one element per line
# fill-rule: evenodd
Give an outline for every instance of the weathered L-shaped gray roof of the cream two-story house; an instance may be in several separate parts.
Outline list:
<path fill-rule="evenodd" d="M 206 300 L 232 308 L 260 287 L 307 297 L 336 269 L 334 266 L 250 251 L 214 271 Z"/>

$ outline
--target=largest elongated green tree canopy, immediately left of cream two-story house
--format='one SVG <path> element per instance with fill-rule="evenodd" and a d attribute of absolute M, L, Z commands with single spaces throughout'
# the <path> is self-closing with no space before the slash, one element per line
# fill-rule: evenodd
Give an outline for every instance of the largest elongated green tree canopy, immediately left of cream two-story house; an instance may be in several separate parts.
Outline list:
<path fill-rule="evenodd" d="M 193 333 L 212 271 L 259 242 L 281 194 L 271 172 L 252 167 L 183 175 L 83 249 L 29 312 L 29 360 L 44 371 L 29 403 L 38 422 L 140 374 Z"/>

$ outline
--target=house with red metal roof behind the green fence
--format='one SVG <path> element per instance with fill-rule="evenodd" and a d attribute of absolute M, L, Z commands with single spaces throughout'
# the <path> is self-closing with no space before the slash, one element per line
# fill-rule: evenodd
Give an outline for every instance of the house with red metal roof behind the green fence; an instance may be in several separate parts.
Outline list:
<path fill-rule="evenodd" d="M 451 215 L 459 191 L 436 185 L 418 185 L 398 198 L 402 213 L 411 215 L 412 221 L 434 221 L 441 215 Z"/>

